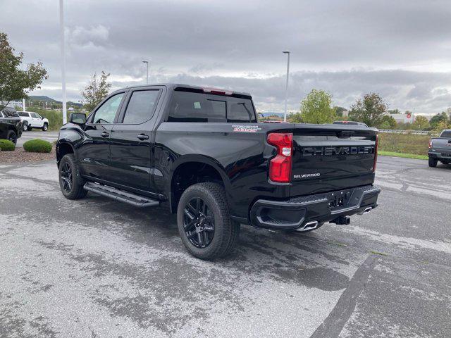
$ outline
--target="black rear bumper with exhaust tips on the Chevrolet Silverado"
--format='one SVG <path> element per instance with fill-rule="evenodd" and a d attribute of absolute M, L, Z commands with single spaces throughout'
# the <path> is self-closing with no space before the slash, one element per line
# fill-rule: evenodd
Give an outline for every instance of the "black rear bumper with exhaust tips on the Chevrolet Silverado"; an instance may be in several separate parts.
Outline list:
<path fill-rule="evenodd" d="M 381 188 L 366 185 L 324 194 L 302 196 L 287 201 L 259 199 L 250 211 L 255 227 L 273 230 L 299 230 L 307 224 L 321 225 L 340 216 L 364 213 L 378 206 Z M 336 204 L 339 206 L 335 206 Z"/>

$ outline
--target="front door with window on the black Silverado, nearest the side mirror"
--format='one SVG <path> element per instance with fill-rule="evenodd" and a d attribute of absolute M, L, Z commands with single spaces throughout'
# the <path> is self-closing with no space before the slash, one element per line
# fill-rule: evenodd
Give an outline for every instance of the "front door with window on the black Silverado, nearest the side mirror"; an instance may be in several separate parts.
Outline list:
<path fill-rule="evenodd" d="M 99 106 L 85 126 L 85 140 L 78 148 L 78 161 L 82 175 L 110 180 L 110 138 L 113 122 L 121 110 L 125 92 L 110 96 Z"/>

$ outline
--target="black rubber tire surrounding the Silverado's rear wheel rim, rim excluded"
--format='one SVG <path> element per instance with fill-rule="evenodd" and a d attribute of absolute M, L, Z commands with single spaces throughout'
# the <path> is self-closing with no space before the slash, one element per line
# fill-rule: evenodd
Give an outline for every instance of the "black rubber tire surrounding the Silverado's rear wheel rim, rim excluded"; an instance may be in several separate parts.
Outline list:
<path fill-rule="evenodd" d="M 214 215 L 214 237 L 211 243 L 199 248 L 187 238 L 183 225 L 183 215 L 186 204 L 193 198 L 203 199 Z M 186 249 L 200 259 L 213 260 L 228 255 L 233 250 L 240 235 L 240 223 L 230 219 L 226 192 L 220 184 L 205 182 L 188 187 L 183 192 L 178 203 L 177 224 L 180 237 Z"/>

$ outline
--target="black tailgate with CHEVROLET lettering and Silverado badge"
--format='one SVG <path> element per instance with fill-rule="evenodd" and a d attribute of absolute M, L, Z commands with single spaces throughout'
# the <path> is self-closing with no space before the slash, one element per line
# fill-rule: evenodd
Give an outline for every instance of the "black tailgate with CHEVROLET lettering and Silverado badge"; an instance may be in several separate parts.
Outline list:
<path fill-rule="evenodd" d="M 295 125 L 290 196 L 373 183 L 377 130 Z"/>

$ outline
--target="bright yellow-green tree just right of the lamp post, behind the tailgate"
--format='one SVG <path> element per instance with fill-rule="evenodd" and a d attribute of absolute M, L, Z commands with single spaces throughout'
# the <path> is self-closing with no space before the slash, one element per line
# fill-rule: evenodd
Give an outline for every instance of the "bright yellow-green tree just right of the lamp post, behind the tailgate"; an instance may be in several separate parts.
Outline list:
<path fill-rule="evenodd" d="M 323 90 L 311 89 L 301 101 L 300 118 L 303 123 L 332 123 L 336 115 L 331 105 L 332 95 Z"/>

